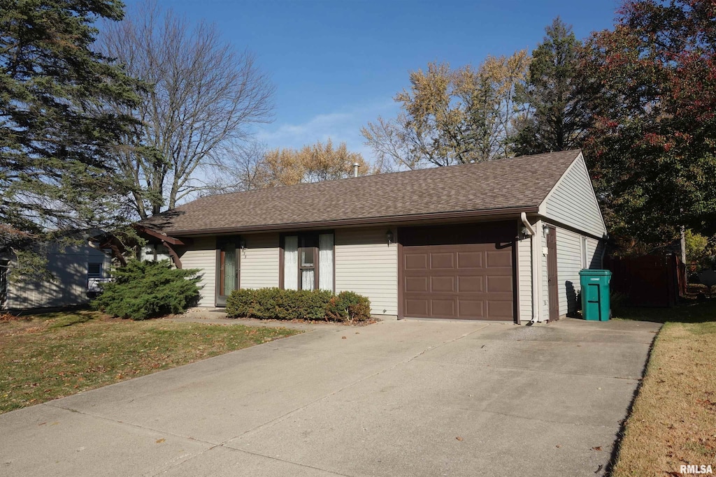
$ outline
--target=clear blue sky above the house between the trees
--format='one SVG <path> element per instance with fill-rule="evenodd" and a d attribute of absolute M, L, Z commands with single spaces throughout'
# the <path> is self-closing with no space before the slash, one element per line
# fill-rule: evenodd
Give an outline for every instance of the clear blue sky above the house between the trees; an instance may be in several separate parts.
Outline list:
<path fill-rule="evenodd" d="M 332 137 L 372 159 L 359 129 L 395 117 L 392 97 L 428 62 L 477 65 L 485 56 L 532 51 L 559 15 L 579 38 L 610 28 L 616 0 L 158 0 L 256 54 L 276 84 L 269 147 Z M 134 3 L 128 0 L 127 4 Z"/>

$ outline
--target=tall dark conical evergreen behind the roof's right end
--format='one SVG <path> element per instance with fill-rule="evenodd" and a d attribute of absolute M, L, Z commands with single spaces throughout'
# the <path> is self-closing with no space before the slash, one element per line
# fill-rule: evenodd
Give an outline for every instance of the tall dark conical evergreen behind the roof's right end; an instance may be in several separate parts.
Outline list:
<path fill-rule="evenodd" d="M 581 41 L 559 17 L 532 52 L 528 79 L 518 88 L 523 114 L 516 119 L 516 154 L 581 147 L 589 122 L 579 87 Z"/>

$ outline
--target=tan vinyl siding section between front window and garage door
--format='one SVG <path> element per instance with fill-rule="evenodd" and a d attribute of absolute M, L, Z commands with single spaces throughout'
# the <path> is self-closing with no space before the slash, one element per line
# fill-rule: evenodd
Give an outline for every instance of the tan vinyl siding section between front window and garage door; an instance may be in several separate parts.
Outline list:
<path fill-rule="evenodd" d="M 387 244 L 387 228 L 336 230 L 336 292 L 367 296 L 374 315 L 398 313 L 397 245 Z"/>

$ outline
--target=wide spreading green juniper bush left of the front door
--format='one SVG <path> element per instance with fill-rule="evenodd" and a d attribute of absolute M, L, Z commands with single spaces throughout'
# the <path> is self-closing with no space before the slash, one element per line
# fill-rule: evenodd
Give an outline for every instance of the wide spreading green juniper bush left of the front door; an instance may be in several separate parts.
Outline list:
<path fill-rule="evenodd" d="M 114 281 L 101 284 L 92 308 L 132 320 L 183 313 L 198 303 L 200 271 L 172 268 L 169 260 L 130 260 L 112 271 Z"/>

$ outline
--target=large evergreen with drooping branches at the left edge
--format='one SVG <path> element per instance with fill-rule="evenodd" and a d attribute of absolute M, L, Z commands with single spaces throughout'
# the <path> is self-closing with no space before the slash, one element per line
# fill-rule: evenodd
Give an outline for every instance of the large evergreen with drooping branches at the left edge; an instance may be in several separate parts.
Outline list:
<path fill-rule="evenodd" d="M 131 119 L 99 104 L 141 84 L 92 51 L 115 0 L 0 0 L 0 248 L 49 232 L 108 227 L 125 182 L 110 151 Z"/>

